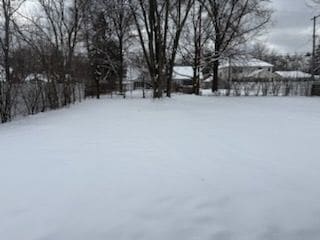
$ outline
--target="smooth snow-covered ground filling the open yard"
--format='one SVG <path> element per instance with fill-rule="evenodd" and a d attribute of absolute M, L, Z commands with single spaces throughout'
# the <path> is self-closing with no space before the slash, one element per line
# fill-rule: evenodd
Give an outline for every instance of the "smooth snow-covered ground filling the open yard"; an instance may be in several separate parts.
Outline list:
<path fill-rule="evenodd" d="M 0 126 L 1 240 L 319 240 L 320 98 L 89 100 Z"/>

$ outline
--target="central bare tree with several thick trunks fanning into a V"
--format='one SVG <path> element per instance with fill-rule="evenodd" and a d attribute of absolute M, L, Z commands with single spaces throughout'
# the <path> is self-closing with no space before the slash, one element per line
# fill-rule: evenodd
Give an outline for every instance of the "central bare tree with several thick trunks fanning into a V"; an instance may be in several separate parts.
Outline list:
<path fill-rule="evenodd" d="M 153 97 L 171 95 L 172 72 L 180 36 L 193 0 L 130 0 L 153 85 Z M 165 81 L 166 80 L 166 81 Z"/>

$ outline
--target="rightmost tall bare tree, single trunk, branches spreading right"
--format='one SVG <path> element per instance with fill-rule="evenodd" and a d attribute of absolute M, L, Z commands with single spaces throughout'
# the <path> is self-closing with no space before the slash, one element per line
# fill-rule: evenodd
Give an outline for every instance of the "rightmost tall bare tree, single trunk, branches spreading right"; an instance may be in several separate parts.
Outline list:
<path fill-rule="evenodd" d="M 221 57 L 256 36 L 270 22 L 269 0 L 200 0 L 214 26 L 212 91 L 218 90 Z"/>

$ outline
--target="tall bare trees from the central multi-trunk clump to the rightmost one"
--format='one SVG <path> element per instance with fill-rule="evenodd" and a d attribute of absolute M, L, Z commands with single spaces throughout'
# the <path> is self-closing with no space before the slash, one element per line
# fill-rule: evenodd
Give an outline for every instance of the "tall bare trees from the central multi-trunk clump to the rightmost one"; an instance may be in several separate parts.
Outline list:
<path fill-rule="evenodd" d="M 131 0 L 136 29 L 153 84 L 154 97 L 171 93 L 177 53 L 192 59 L 194 92 L 209 52 L 212 91 L 218 89 L 221 58 L 229 57 L 261 32 L 271 19 L 269 0 Z M 185 40 L 186 45 L 181 42 Z"/>

